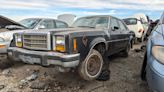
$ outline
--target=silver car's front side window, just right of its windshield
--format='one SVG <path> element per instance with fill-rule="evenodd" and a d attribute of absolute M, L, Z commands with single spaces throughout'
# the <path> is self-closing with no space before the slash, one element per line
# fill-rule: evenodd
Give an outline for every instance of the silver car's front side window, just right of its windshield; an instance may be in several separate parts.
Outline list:
<path fill-rule="evenodd" d="M 44 20 L 40 23 L 40 27 L 44 29 L 56 28 L 54 20 Z"/>

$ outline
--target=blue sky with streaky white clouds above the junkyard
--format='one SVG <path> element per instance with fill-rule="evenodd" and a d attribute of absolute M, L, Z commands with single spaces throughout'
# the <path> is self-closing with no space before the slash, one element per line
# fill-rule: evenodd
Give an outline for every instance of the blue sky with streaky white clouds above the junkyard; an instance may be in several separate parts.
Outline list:
<path fill-rule="evenodd" d="M 164 0 L 0 0 L 0 15 L 15 21 L 29 17 L 56 18 L 60 14 L 127 18 L 136 13 L 156 20 L 162 12 Z"/>

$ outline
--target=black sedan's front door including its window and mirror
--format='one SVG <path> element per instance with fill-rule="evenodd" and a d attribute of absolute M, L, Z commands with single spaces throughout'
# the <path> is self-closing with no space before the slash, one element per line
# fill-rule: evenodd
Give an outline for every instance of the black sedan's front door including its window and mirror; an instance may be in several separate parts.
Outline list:
<path fill-rule="evenodd" d="M 118 19 L 111 17 L 110 20 L 110 41 L 109 41 L 109 50 L 112 53 L 118 52 L 119 49 L 121 48 L 121 31 L 118 23 Z M 111 46 L 111 47 L 110 47 Z"/>

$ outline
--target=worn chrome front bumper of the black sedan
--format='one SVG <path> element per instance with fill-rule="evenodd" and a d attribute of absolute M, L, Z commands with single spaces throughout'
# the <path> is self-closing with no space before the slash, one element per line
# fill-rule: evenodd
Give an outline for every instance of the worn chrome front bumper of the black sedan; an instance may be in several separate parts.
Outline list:
<path fill-rule="evenodd" d="M 80 54 L 63 54 L 59 52 L 32 51 L 23 48 L 9 47 L 8 57 L 15 61 L 43 66 L 58 65 L 62 67 L 76 67 Z"/>

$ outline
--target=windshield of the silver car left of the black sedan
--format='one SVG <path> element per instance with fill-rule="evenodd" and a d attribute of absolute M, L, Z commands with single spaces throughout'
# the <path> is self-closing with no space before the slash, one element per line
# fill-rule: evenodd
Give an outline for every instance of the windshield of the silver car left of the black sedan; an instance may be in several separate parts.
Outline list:
<path fill-rule="evenodd" d="M 27 28 L 33 29 L 39 23 L 39 21 L 40 19 L 24 19 L 19 23 Z"/>

